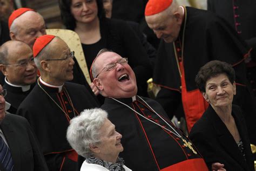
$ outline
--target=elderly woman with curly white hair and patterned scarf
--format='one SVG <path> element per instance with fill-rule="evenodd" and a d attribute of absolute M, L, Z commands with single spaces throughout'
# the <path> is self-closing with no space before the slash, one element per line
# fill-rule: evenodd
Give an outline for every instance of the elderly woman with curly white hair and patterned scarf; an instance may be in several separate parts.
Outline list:
<path fill-rule="evenodd" d="M 123 151 L 122 135 L 107 119 L 107 112 L 84 110 L 70 121 L 66 137 L 73 149 L 85 158 L 81 171 L 131 170 L 118 155 Z"/>

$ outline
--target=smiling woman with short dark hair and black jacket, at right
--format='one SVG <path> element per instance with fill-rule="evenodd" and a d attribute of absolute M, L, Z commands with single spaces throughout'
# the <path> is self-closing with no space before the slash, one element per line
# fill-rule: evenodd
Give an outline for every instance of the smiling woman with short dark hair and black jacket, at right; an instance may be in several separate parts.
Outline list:
<path fill-rule="evenodd" d="M 230 64 L 213 60 L 200 68 L 196 84 L 210 104 L 191 129 L 189 138 L 210 170 L 254 170 L 244 115 L 233 105 L 235 71 Z"/>

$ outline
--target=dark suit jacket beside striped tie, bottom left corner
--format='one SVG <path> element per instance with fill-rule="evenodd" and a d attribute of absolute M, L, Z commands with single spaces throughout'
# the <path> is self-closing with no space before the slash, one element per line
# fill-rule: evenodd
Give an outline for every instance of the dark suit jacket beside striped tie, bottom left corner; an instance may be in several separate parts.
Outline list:
<path fill-rule="evenodd" d="M 14 170 L 48 170 L 43 152 L 25 118 L 6 114 L 1 129 L 11 151 Z"/>

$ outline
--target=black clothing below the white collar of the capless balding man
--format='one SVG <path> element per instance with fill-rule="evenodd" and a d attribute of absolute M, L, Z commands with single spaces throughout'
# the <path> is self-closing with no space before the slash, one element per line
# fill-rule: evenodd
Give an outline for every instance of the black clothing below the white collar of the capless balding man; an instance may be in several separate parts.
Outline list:
<path fill-rule="evenodd" d="M 3 89 L 7 90 L 7 94 L 4 97 L 5 101 L 11 104 L 9 113 L 16 113 L 19 105 L 21 105 L 22 101 L 26 98 L 26 96 L 32 91 L 33 87 L 35 87 L 35 83 L 30 85 L 30 89 L 28 91 L 23 92 L 21 87 L 14 87 L 7 83 L 3 85 Z"/>

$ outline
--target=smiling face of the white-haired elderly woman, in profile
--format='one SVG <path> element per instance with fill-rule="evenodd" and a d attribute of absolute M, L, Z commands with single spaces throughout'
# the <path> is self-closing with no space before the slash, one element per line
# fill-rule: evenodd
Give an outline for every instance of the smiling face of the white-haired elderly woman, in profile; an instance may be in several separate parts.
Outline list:
<path fill-rule="evenodd" d="M 121 143 L 122 135 L 116 131 L 115 126 L 109 119 L 105 120 L 99 132 L 100 142 L 97 147 L 100 158 L 105 161 L 114 160 L 116 162 L 119 153 L 124 150 Z"/>

